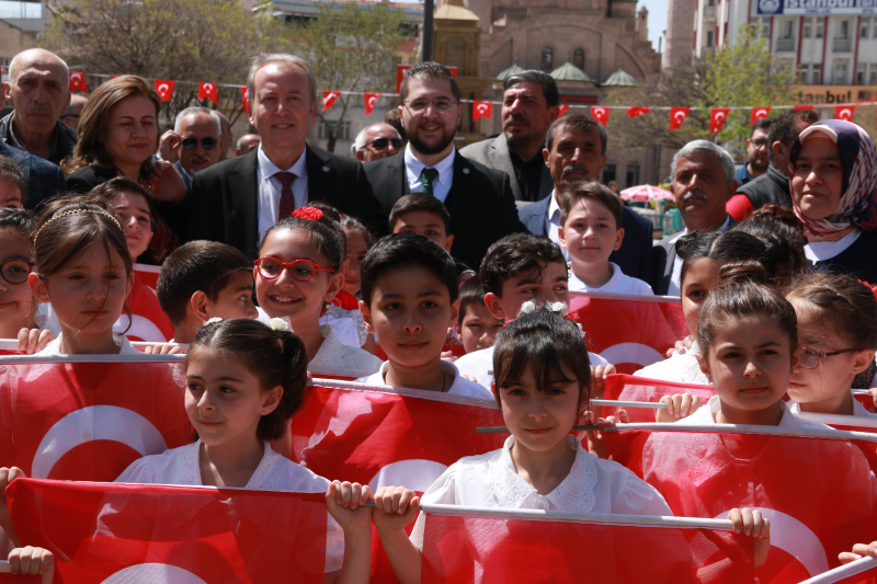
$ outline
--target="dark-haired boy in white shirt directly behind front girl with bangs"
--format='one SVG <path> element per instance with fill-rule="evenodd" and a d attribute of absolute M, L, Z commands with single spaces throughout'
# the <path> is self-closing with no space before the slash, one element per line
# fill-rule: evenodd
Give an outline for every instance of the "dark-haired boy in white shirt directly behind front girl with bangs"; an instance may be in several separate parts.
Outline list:
<path fill-rule="evenodd" d="M 514 320 L 521 305 L 527 300 L 569 306 L 569 276 L 563 252 L 545 237 L 513 233 L 497 241 L 481 262 L 480 277 L 486 290 L 485 305 L 498 319 Z M 588 355 L 592 366 L 608 366 L 600 355 Z M 464 355 L 455 365 L 488 389 L 493 383 L 492 346 Z M 614 369 L 607 370 L 614 373 Z"/>

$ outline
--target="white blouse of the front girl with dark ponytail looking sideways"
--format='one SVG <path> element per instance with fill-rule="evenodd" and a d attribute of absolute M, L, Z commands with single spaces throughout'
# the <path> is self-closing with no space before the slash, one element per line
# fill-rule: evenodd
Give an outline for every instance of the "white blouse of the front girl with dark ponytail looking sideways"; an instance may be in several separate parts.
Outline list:
<path fill-rule="evenodd" d="M 329 481 L 300 465 L 282 457 L 264 443 L 262 460 L 247 481 L 246 489 L 258 491 L 294 491 L 298 493 L 324 493 Z M 198 456 L 201 440 L 160 455 L 139 458 L 119 474 L 115 482 L 132 484 L 180 484 L 201 486 Z M 344 560 L 344 531 L 326 513 L 326 573 L 341 570 Z"/>

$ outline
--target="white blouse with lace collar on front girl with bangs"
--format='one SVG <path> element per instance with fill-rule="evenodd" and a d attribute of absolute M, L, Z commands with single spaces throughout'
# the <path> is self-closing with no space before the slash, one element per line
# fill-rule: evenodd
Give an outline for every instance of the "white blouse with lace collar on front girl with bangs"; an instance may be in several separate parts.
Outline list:
<path fill-rule="evenodd" d="M 499 450 L 460 458 L 432 483 L 421 501 L 510 509 L 673 515 L 654 488 L 618 462 L 588 453 L 574 436 L 569 436 L 569 446 L 576 450 L 569 474 L 554 491 L 540 495 L 515 471 L 511 456 L 513 445 L 514 436 L 509 436 Z M 421 513 L 410 538 L 421 550 L 424 522 Z"/>

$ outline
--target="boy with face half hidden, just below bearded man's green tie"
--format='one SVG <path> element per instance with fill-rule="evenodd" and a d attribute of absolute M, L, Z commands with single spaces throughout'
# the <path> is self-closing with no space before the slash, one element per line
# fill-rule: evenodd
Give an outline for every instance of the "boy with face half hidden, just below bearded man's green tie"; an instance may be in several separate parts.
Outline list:
<path fill-rule="evenodd" d="M 390 210 L 390 233 L 417 233 L 434 241 L 451 253 L 454 234 L 451 232 L 451 214 L 442 202 L 432 195 L 412 193 L 399 198 Z M 452 256 L 453 257 L 453 256 Z M 459 285 L 475 275 L 475 271 L 454 257 Z M 471 274 L 471 275 L 469 275 Z M 467 277 L 464 278 L 464 275 Z"/>

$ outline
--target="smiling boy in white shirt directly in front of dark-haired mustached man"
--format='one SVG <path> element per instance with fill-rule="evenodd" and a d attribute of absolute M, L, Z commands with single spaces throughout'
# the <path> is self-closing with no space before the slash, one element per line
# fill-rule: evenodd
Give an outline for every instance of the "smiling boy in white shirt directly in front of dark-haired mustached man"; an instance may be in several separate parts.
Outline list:
<path fill-rule="evenodd" d="M 622 199 L 597 182 L 572 183 L 560 197 L 560 245 L 569 252 L 570 291 L 653 296 L 651 286 L 610 262 L 622 247 Z"/>

